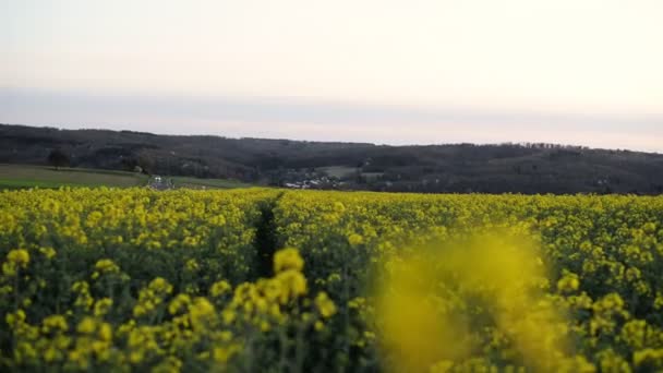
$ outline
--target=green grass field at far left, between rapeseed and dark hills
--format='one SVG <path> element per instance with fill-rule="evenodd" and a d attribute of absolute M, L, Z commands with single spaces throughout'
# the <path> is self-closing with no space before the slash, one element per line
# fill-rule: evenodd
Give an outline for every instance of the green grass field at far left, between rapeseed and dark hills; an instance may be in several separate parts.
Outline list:
<path fill-rule="evenodd" d="M 147 177 L 134 172 L 0 165 L 0 189 L 60 188 L 60 186 L 142 186 Z"/>

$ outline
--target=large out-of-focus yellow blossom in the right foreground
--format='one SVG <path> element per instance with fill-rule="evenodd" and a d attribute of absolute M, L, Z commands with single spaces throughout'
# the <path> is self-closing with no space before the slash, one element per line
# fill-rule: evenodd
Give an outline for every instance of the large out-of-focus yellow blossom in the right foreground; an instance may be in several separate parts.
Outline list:
<path fill-rule="evenodd" d="M 565 356 L 564 320 L 538 291 L 545 268 L 531 243 L 495 233 L 411 252 L 386 261 L 376 297 L 391 371 L 480 357 L 485 328 L 504 335 L 537 371 L 554 369 Z"/>

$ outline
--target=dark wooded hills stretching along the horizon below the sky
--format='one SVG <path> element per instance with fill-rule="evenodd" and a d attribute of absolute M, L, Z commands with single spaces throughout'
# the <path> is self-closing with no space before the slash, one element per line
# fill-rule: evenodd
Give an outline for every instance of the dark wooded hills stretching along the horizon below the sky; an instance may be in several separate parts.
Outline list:
<path fill-rule="evenodd" d="M 663 155 L 553 144 L 387 146 L 0 124 L 0 163 L 264 185 L 451 193 L 663 192 Z"/>

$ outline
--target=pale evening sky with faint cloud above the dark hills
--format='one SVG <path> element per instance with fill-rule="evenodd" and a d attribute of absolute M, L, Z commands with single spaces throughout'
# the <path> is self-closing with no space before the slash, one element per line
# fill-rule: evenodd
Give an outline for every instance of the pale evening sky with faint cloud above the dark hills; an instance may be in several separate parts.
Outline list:
<path fill-rule="evenodd" d="M 660 0 L 0 0 L 0 123 L 663 153 Z"/>

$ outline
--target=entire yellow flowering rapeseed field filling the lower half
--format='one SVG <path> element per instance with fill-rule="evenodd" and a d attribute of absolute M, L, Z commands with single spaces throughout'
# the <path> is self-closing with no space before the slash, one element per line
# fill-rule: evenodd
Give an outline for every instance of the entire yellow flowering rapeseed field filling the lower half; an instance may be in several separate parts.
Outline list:
<path fill-rule="evenodd" d="M 663 369 L 663 197 L 0 193 L 0 370 Z"/>

